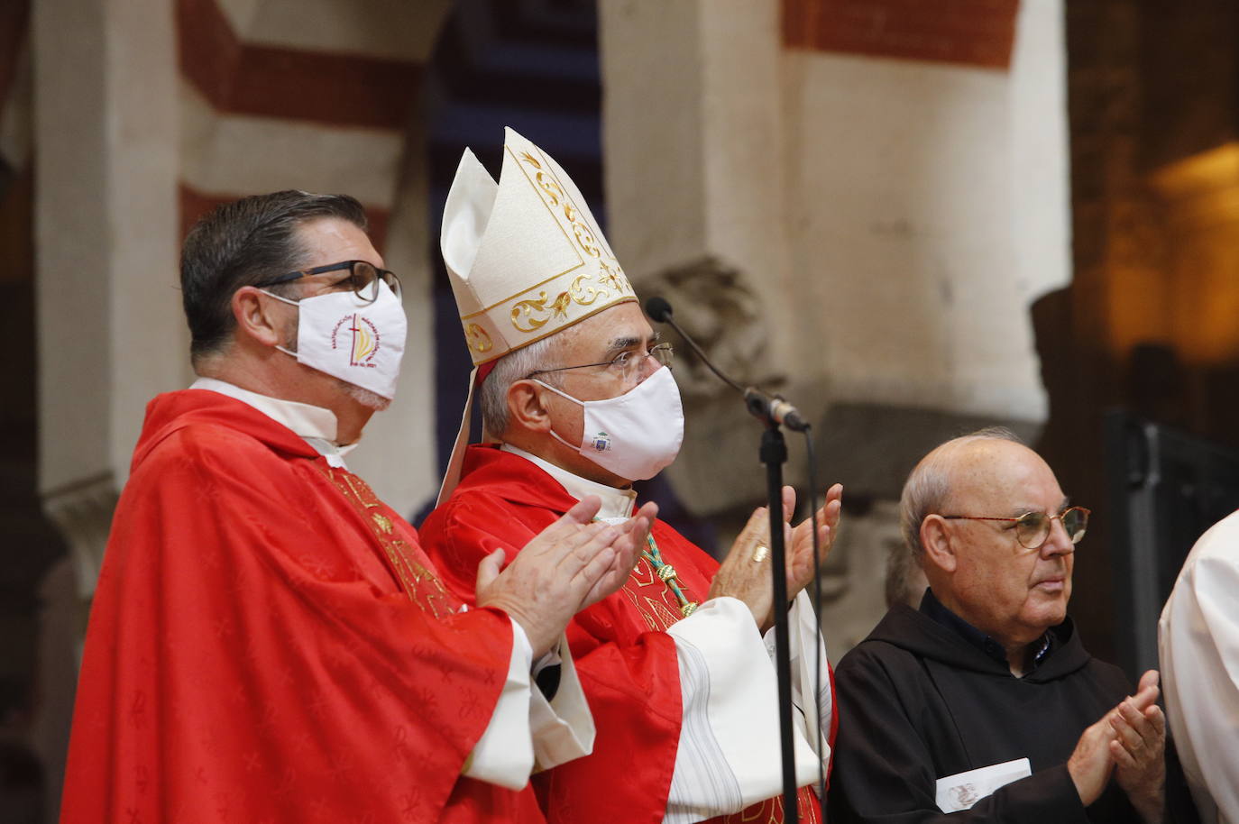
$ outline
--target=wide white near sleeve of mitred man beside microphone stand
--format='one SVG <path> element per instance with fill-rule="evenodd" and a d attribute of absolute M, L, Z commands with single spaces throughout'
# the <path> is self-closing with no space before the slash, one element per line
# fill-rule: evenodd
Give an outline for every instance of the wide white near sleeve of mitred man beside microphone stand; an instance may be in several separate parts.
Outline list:
<path fill-rule="evenodd" d="M 711 598 L 667 634 L 679 658 L 683 715 L 663 820 L 699 822 L 778 796 L 777 679 L 748 607 L 731 597 Z M 803 719 L 795 719 L 795 777 L 803 787 L 817 781 L 818 760 Z"/>

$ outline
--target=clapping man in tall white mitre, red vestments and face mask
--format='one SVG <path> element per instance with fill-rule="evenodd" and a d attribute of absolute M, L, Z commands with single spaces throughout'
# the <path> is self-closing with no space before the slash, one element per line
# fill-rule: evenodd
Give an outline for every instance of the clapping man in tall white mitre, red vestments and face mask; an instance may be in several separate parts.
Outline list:
<path fill-rule="evenodd" d="M 468 151 L 449 193 L 442 252 L 475 363 L 439 508 L 421 535 L 468 597 L 468 569 L 514 550 L 584 496 L 631 515 L 632 482 L 675 460 L 684 431 L 672 349 L 654 335 L 585 199 L 544 151 L 507 130 L 497 183 Z M 483 445 L 465 447 L 473 395 Z M 835 487 L 818 513 L 823 554 Z M 794 508 L 788 488 L 784 515 Z M 534 776 L 550 822 L 781 822 L 766 512 L 720 568 L 665 523 L 622 591 L 582 611 L 569 642 L 597 726 L 592 755 Z M 812 525 L 787 527 L 793 597 L 813 575 Z M 792 607 L 802 822 L 829 761 L 824 648 L 805 596 Z M 823 689 L 814 695 L 815 653 Z M 823 751 L 817 721 L 823 724 Z"/>

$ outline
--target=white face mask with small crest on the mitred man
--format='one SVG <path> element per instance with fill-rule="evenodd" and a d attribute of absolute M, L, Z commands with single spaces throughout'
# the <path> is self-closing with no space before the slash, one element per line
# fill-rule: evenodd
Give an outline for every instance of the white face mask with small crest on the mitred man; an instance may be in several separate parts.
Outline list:
<path fill-rule="evenodd" d="M 658 369 L 618 398 L 577 400 L 541 380 L 558 395 L 580 404 L 585 420 L 580 449 L 553 429 L 551 437 L 576 449 L 603 470 L 626 481 L 646 481 L 662 472 L 680 452 L 684 408 L 672 370 Z"/>

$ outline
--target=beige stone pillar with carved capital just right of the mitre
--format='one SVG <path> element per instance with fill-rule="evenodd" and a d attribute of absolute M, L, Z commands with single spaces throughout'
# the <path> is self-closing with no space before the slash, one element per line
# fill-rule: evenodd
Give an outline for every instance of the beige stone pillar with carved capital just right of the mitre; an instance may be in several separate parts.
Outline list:
<path fill-rule="evenodd" d="M 638 294 L 665 296 L 725 372 L 778 388 L 800 344 L 783 322 L 797 290 L 778 4 L 602 0 L 598 16 L 607 237 Z M 691 416 L 678 493 L 699 513 L 761 494 L 761 473 L 720 473 L 717 450 L 751 467 L 760 429 L 694 358 L 675 375 Z"/>

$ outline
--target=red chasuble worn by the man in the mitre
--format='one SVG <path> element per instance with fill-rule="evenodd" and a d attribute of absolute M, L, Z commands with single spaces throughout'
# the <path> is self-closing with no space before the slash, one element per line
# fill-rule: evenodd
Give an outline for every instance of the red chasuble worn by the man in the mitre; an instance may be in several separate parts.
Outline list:
<path fill-rule="evenodd" d="M 468 601 L 471 570 L 497 548 L 512 554 L 576 503 L 533 462 L 493 446 L 471 446 L 460 486 L 426 519 L 422 545 L 444 582 Z M 655 522 L 654 541 L 690 601 L 704 601 L 717 561 Z M 567 628 L 581 688 L 597 727 L 593 753 L 534 776 L 553 823 L 662 822 L 680 736 L 675 642 L 664 629 L 681 618 L 675 596 L 642 559 L 618 592 L 577 613 Z M 798 796 L 802 822 L 819 822 L 817 797 Z M 719 822 L 783 820 L 782 798 Z"/>

